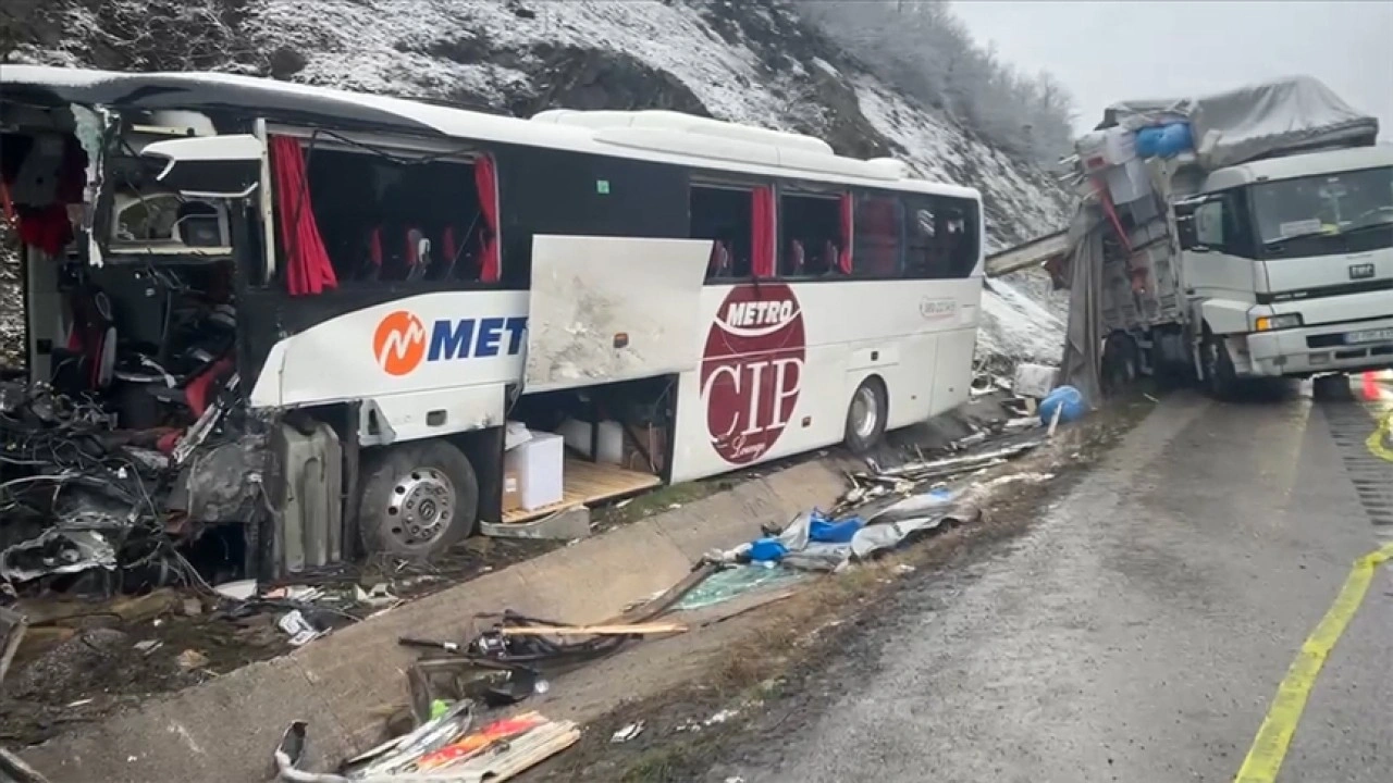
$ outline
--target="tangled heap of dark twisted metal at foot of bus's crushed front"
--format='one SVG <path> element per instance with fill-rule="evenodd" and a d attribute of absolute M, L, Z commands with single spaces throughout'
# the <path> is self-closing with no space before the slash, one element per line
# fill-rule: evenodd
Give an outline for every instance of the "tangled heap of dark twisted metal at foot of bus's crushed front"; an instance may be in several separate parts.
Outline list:
<path fill-rule="evenodd" d="M 235 378 L 182 431 L 121 431 L 98 403 L 0 385 L 0 577 L 84 592 L 201 580 L 178 545 L 266 503 L 266 435 L 227 421 L 234 393 Z"/>

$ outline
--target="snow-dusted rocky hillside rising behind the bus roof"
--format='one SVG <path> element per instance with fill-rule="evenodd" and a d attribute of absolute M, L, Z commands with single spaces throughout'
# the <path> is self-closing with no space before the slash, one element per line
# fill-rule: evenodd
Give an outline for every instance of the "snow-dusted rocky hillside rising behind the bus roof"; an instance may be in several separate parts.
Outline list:
<path fill-rule="evenodd" d="M 1048 174 L 866 74 L 777 0 L 17 0 L 17 8 L 0 31 L 17 42 L 15 60 L 224 70 L 517 116 L 673 109 L 812 134 L 843 155 L 894 156 L 921 177 L 976 187 L 988 251 L 1067 219 L 1067 195 Z M 983 348 L 1018 352 L 1017 333 L 1045 340 L 1041 330 L 1053 329 L 1017 327 L 1039 316 L 1025 294 L 985 297 Z"/>

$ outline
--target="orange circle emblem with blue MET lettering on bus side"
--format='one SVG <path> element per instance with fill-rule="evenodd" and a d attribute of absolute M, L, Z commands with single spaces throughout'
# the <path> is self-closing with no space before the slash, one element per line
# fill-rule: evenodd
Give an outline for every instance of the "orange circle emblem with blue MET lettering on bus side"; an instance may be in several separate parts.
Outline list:
<path fill-rule="evenodd" d="M 382 372 L 410 375 L 425 362 L 517 355 L 527 316 L 440 318 L 425 323 L 414 312 L 387 313 L 372 336 L 372 355 Z"/>

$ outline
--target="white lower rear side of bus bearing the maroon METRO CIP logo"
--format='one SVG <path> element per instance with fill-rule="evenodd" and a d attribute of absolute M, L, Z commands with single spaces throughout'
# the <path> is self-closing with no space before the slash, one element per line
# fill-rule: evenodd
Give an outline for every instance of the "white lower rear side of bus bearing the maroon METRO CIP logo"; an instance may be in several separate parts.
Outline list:
<path fill-rule="evenodd" d="M 841 442 L 851 396 L 869 376 L 885 383 L 890 426 L 965 401 L 981 286 L 981 279 L 706 286 L 702 366 L 678 382 L 671 481 Z"/>

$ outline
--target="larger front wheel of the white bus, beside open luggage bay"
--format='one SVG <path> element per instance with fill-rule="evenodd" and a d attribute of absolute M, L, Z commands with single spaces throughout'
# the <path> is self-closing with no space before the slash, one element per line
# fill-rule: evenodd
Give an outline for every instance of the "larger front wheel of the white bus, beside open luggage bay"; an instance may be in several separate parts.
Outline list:
<path fill-rule="evenodd" d="M 364 550 L 426 559 L 474 532 L 479 481 L 443 440 L 389 447 L 368 470 L 358 507 Z"/>

